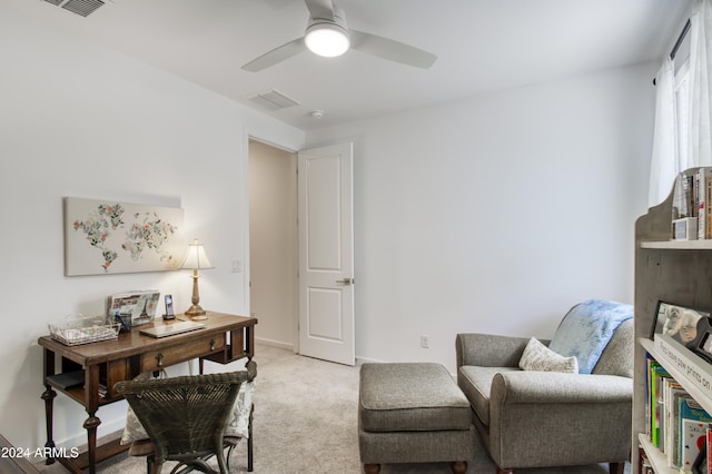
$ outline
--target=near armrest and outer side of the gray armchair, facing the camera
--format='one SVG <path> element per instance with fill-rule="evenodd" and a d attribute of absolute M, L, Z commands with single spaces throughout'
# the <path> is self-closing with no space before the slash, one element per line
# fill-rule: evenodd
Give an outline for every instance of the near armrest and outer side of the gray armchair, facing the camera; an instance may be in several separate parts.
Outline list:
<path fill-rule="evenodd" d="M 631 378 L 507 372 L 495 375 L 490 395 L 491 454 L 500 466 L 630 458 Z"/>

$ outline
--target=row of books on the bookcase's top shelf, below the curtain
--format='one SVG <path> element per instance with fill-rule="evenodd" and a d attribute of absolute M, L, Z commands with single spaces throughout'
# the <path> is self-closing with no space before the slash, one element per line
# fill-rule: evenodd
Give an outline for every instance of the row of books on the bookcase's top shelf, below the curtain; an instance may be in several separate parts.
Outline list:
<path fill-rule="evenodd" d="M 678 175 L 672 205 L 673 239 L 712 238 L 712 167 Z"/>

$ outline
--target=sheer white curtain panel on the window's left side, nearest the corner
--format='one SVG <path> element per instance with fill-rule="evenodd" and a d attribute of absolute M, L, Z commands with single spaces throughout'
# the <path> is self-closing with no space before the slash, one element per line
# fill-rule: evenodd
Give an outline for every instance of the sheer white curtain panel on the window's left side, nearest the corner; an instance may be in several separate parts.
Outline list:
<path fill-rule="evenodd" d="M 678 119 L 675 111 L 675 67 L 665 58 L 655 76 L 655 130 L 650 168 L 649 205 L 665 200 L 680 172 L 678 161 Z"/>

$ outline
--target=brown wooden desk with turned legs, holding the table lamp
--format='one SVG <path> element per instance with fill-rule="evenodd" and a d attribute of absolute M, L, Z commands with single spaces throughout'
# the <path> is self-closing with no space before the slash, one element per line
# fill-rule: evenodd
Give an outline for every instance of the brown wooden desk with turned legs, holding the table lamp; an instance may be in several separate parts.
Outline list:
<path fill-rule="evenodd" d="M 140 328 L 147 325 L 121 333 L 117 339 L 79 346 L 67 346 L 51 336 L 40 337 L 38 343 L 44 353 L 44 446 L 55 447 L 52 405 L 57 396 L 56 391 L 83 405 L 89 415 L 83 422 L 87 429 L 87 452 L 76 458 L 58 457 L 57 461 L 72 473 L 82 473 L 88 467 L 89 472 L 95 474 L 97 462 L 128 450 L 129 446 L 121 446 L 119 440 L 97 446 L 97 427 L 101 424 L 97 411 L 102 405 L 122 399 L 113 391 L 117 382 L 131 379 L 141 372 L 160 371 L 192 358 L 199 358 L 200 372 L 205 359 L 227 364 L 244 357 L 248 361 L 253 358 L 256 318 L 211 312 L 208 312 L 207 316 L 207 320 L 200 322 L 207 326 L 204 329 L 161 338 L 140 334 Z M 177 318 L 188 319 L 184 315 L 177 315 Z M 164 324 L 160 319 L 151 323 L 160 324 Z M 56 364 L 58 356 L 61 358 L 59 371 Z M 67 378 L 70 378 L 69 383 Z M 47 460 L 47 464 L 53 462 L 55 458 Z"/>

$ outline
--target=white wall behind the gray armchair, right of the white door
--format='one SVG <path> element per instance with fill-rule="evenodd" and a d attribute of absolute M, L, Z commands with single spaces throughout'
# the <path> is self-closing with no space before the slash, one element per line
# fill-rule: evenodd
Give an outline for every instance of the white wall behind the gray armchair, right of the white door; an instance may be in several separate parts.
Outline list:
<path fill-rule="evenodd" d="M 454 371 L 458 332 L 551 337 L 577 302 L 632 303 L 654 70 L 307 134 L 355 144 L 357 357 Z"/>

